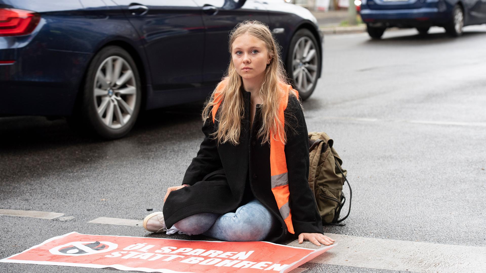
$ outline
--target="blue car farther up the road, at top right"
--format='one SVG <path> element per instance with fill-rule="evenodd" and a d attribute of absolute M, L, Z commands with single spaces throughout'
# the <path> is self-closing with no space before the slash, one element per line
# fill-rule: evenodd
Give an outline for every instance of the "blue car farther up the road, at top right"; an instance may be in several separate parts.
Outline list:
<path fill-rule="evenodd" d="M 362 0 L 360 14 L 375 39 L 389 27 L 417 28 L 427 34 L 431 26 L 439 26 L 451 36 L 460 36 L 464 26 L 486 23 L 486 1 Z"/>

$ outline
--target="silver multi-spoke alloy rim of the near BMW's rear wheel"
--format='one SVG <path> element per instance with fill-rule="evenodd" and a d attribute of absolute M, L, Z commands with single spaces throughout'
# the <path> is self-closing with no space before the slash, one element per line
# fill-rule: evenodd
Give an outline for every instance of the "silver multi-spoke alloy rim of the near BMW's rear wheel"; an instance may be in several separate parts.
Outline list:
<path fill-rule="evenodd" d="M 106 58 L 98 68 L 93 85 L 98 117 L 111 129 L 123 127 L 131 118 L 137 101 L 135 75 L 120 56 Z"/>

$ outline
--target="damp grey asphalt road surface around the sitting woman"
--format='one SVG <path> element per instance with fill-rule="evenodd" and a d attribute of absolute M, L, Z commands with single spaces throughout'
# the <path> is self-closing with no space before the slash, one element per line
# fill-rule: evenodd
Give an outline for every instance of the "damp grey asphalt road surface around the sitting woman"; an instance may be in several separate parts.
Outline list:
<path fill-rule="evenodd" d="M 295 272 L 486 272 L 485 45 L 485 25 L 459 38 L 440 28 L 325 37 L 323 78 L 303 104 L 308 130 L 327 132 L 343 158 L 352 208 L 345 226 L 324 227 L 338 244 Z M 128 220 L 161 210 L 180 185 L 203 139 L 201 106 L 148 112 L 115 141 L 77 136 L 62 119 L 0 119 L 0 209 L 64 214 L 0 216 L 0 258 L 71 231 L 189 239 Z M 128 222 L 89 222 L 100 217 Z"/>

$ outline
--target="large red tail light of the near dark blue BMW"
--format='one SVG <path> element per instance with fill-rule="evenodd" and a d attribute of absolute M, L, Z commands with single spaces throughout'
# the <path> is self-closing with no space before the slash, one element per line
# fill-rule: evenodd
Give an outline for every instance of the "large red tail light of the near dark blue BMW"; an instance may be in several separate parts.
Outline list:
<path fill-rule="evenodd" d="M 0 8 L 0 36 L 18 36 L 32 33 L 40 15 L 33 11 Z"/>

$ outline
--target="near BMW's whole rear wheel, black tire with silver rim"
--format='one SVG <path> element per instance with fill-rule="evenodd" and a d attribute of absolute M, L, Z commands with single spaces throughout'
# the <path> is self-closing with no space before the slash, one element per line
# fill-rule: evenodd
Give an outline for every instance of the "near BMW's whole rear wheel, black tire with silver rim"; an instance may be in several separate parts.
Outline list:
<path fill-rule="evenodd" d="M 139 115 L 141 84 L 130 54 L 118 46 L 99 51 L 87 68 L 82 85 L 77 120 L 85 129 L 104 139 L 125 136 Z M 75 126 L 72 124 L 71 126 Z"/>

